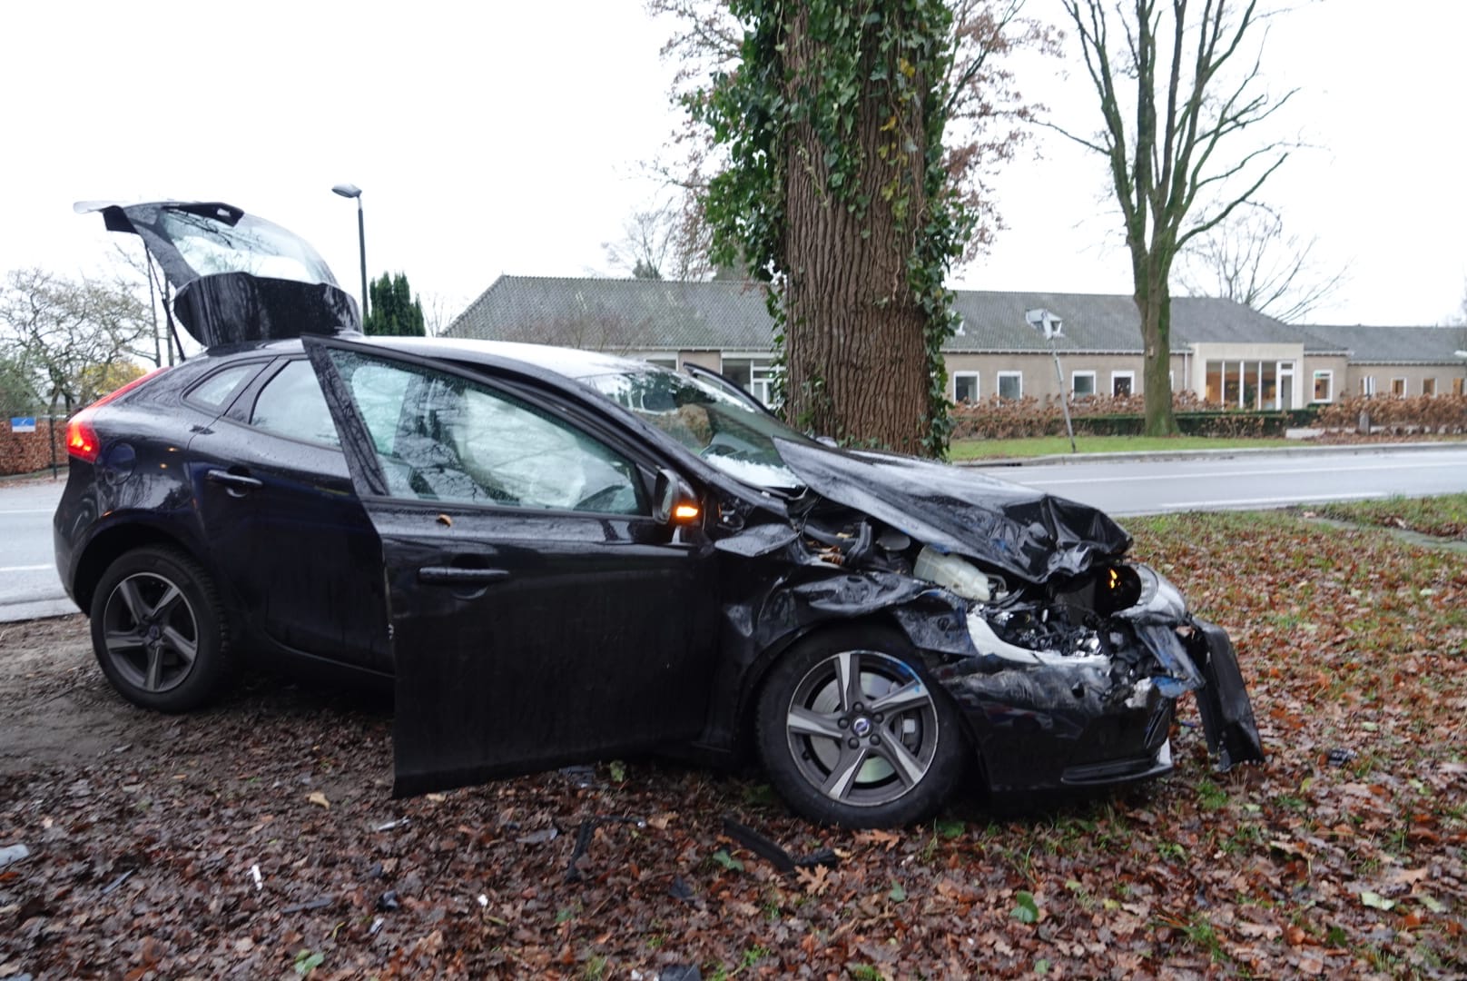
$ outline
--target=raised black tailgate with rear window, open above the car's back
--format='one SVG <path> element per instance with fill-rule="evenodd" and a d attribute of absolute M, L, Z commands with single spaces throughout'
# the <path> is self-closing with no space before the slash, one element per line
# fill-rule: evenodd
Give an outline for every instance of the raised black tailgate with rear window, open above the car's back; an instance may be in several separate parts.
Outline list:
<path fill-rule="evenodd" d="M 204 347 L 361 330 L 356 301 L 305 239 L 232 204 L 82 201 L 76 211 L 142 239 L 175 289 L 175 316 Z"/>

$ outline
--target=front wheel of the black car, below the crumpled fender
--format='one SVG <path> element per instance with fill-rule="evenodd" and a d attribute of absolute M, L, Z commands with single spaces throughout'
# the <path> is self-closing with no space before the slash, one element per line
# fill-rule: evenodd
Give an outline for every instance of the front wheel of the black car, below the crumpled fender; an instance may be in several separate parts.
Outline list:
<path fill-rule="evenodd" d="M 775 789 L 819 824 L 923 821 L 967 768 L 952 701 L 889 630 L 842 627 L 797 643 L 764 680 L 754 725 Z"/>

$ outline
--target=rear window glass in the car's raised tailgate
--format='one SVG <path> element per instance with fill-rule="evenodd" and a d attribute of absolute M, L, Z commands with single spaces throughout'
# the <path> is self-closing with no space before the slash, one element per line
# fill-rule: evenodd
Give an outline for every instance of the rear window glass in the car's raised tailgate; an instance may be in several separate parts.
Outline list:
<path fill-rule="evenodd" d="M 219 209 L 217 216 L 164 207 L 157 231 L 195 273 L 249 273 L 267 279 L 336 285 L 332 270 L 310 245 L 290 232 L 252 216 Z"/>

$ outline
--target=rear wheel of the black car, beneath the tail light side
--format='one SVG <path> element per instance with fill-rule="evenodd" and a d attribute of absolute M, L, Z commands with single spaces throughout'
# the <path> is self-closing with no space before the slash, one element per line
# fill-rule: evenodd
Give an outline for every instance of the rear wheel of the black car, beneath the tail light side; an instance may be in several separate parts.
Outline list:
<path fill-rule="evenodd" d="M 170 548 L 138 548 L 107 567 L 91 604 L 92 651 L 133 705 L 186 712 L 224 681 L 229 624 L 213 579 Z"/>

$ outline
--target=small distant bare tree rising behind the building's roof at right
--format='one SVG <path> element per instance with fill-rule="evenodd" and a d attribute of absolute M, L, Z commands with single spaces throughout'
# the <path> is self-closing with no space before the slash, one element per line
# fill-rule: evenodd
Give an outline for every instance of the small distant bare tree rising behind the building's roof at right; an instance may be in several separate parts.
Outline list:
<path fill-rule="evenodd" d="M 1298 323 L 1345 280 L 1345 269 L 1320 269 L 1317 244 L 1317 236 L 1288 235 L 1273 209 L 1248 207 L 1193 239 L 1177 279 L 1193 297 L 1221 297 Z"/>

